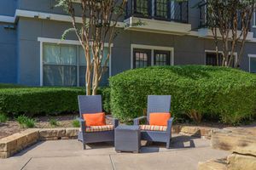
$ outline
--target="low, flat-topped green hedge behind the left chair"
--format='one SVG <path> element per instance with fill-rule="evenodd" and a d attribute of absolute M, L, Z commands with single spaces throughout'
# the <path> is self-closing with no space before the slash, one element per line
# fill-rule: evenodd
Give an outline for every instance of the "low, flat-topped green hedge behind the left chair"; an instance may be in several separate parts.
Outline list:
<path fill-rule="evenodd" d="M 78 95 L 84 94 L 84 88 L 1 88 L 0 112 L 15 116 L 77 112 Z M 109 99 L 108 88 L 100 88 L 99 94 Z M 103 104 L 109 103 L 105 100 Z"/>

